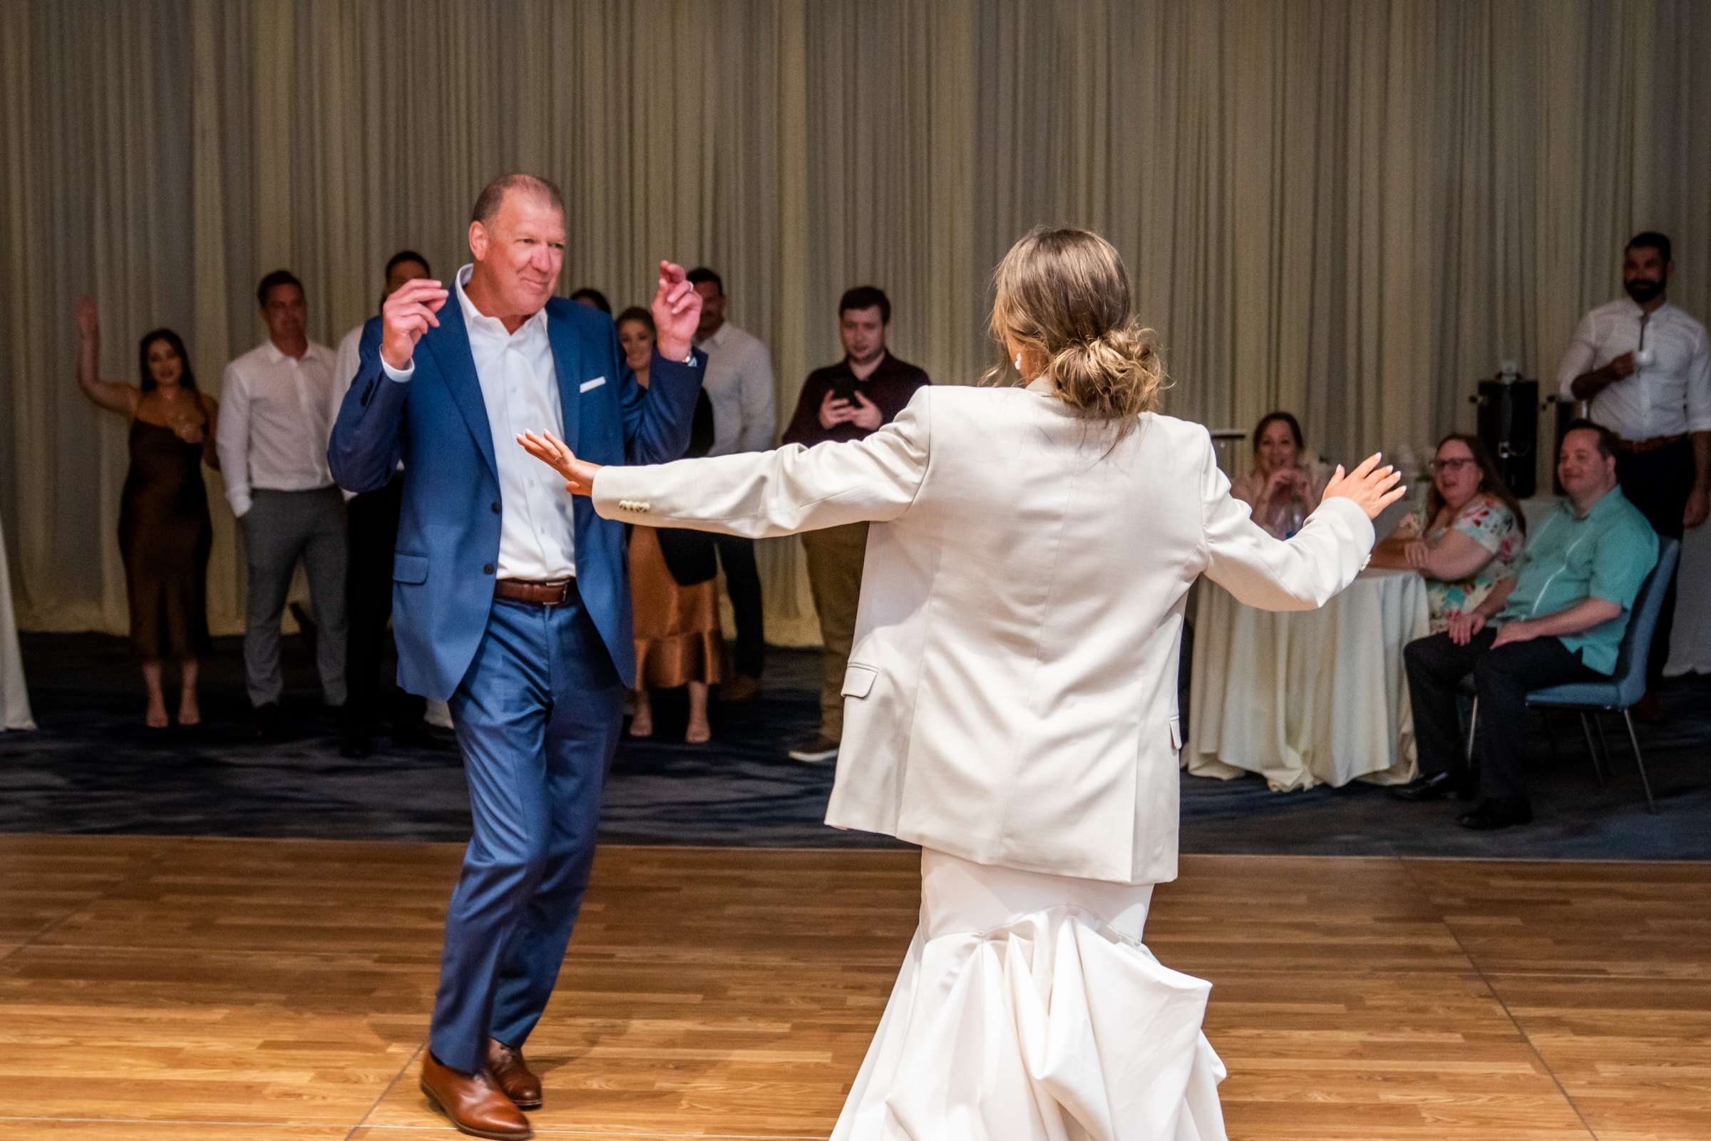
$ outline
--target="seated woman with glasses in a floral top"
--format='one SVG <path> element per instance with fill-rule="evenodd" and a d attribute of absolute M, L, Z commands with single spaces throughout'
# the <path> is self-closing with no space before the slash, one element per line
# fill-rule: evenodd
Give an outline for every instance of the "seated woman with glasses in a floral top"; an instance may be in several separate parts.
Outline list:
<path fill-rule="evenodd" d="M 1449 628 L 1514 578 L 1526 544 L 1526 517 L 1478 436 L 1453 433 L 1437 445 L 1432 489 L 1425 498 L 1425 534 L 1410 515 L 1372 549 L 1371 566 L 1417 570 L 1425 576 L 1432 633 Z"/>

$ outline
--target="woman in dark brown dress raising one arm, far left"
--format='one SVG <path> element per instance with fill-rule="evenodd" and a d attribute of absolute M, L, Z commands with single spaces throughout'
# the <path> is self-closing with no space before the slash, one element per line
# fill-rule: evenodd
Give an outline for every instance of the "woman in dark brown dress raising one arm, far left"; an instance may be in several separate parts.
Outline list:
<path fill-rule="evenodd" d="M 164 729 L 161 660 L 178 659 L 178 724 L 197 725 L 197 667 L 207 652 L 207 566 L 214 542 L 202 464 L 219 467 L 214 424 L 219 405 L 197 390 L 185 342 L 171 328 L 144 334 L 140 385 L 99 378 L 101 322 L 96 303 L 77 303 L 77 387 L 91 404 L 130 417 L 130 470 L 120 500 L 118 544 L 130 600 L 130 645 L 149 689 L 145 720 Z"/>

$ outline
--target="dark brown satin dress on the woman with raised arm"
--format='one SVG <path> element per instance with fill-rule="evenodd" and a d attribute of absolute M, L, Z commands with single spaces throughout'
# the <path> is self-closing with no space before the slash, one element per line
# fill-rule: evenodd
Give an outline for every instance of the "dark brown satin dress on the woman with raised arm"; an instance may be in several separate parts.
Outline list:
<path fill-rule="evenodd" d="M 198 657 L 209 647 L 207 570 L 214 523 L 202 484 L 202 445 L 171 428 L 130 423 L 130 470 L 118 547 L 137 657 Z"/>

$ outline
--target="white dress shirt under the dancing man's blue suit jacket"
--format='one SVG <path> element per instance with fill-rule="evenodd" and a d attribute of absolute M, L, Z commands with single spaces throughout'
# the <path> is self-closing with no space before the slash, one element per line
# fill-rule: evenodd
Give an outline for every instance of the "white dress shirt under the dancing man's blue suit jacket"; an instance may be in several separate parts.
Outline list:
<path fill-rule="evenodd" d="M 517 436 L 525 431 L 565 431 L 565 409 L 558 397 L 558 368 L 546 334 L 546 310 L 505 332 L 505 323 L 486 316 L 464 293 L 474 265 L 457 270 L 457 303 L 469 328 L 469 351 L 476 358 L 481 402 L 488 407 L 493 460 L 500 467 L 500 563 L 498 578 L 556 582 L 577 575 L 577 517 L 565 494 L 565 477 L 534 458 Z M 404 371 L 385 358 L 380 368 L 397 381 L 416 373 L 416 361 Z"/>

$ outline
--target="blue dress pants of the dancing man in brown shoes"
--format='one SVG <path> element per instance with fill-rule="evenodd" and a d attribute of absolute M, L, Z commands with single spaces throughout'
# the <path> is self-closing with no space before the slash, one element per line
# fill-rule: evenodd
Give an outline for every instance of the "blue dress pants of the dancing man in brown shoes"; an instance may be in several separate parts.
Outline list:
<path fill-rule="evenodd" d="M 488 1038 L 541 1021 L 594 864 L 623 681 L 571 590 L 563 606 L 494 600 L 452 695 L 474 835 L 445 920 L 428 1045 L 479 1073 Z"/>

